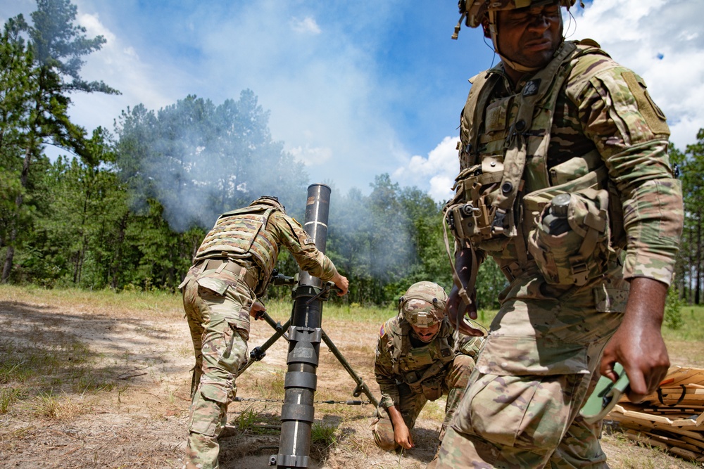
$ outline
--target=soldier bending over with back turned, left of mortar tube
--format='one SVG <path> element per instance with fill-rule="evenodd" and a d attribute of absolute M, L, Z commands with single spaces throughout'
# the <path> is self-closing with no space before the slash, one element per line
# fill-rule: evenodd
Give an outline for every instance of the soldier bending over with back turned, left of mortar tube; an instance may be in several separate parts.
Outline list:
<path fill-rule="evenodd" d="M 315 248 L 300 224 L 275 197 L 220 217 L 196 252 L 194 265 L 180 285 L 196 354 L 186 468 L 218 468 L 218 435 L 227 423 L 227 404 L 237 392 L 237 371 L 249 359 L 250 311 L 267 289 L 284 245 L 301 269 L 333 281 L 339 295 L 347 278 Z"/>

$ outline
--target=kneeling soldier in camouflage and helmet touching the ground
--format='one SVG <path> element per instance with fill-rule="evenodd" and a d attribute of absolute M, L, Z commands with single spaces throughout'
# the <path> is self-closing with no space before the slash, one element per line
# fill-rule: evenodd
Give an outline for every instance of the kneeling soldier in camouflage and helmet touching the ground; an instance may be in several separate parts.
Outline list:
<path fill-rule="evenodd" d="M 445 312 L 447 294 L 436 283 L 418 282 L 398 304 L 398 316 L 382 325 L 374 374 L 382 392 L 374 441 L 381 449 L 410 449 L 423 406 L 447 396 L 440 439 L 474 368 L 482 338 L 455 332 Z"/>

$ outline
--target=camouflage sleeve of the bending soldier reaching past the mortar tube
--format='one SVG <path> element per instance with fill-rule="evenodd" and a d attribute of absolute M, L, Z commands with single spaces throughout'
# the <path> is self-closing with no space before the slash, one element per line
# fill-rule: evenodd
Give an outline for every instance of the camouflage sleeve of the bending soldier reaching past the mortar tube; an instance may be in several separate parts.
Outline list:
<path fill-rule="evenodd" d="M 315 247 L 313 239 L 295 219 L 282 212 L 274 212 L 268 229 L 275 230 L 278 238 L 296 259 L 298 266 L 322 281 L 331 280 L 337 269 L 325 254 Z"/>

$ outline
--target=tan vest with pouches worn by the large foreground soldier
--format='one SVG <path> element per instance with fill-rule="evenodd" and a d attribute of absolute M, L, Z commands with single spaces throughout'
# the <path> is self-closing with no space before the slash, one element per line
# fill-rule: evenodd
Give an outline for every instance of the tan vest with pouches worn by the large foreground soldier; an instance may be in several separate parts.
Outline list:
<path fill-rule="evenodd" d="M 446 221 L 455 238 L 492 255 L 509 280 L 536 261 L 543 274 L 550 274 L 546 281 L 558 278 L 553 275 L 557 250 L 544 242 L 551 233 L 539 236 L 536 228 L 559 194 L 572 193 L 574 203 L 582 204 L 567 211 L 572 214 L 570 226 L 577 226 L 573 231 L 583 236 L 573 240 L 577 245 L 567 248 L 570 252 L 560 252 L 569 258 L 566 264 L 558 260 L 570 273 L 562 272 L 553 283 L 584 285 L 615 255 L 609 240 L 622 233 L 622 226 L 610 227 L 609 218 L 622 224 L 622 217 L 609 217 L 608 212 L 610 203 L 612 212 L 620 212 L 620 200 L 608 196 L 608 172 L 598 152 L 548 167 L 555 102 L 572 65 L 587 54 L 606 55 L 593 41 L 563 43 L 551 63 L 517 94 L 492 103 L 489 98 L 501 75 L 483 72 L 470 80 L 460 125 L 462 170 L 455 179 L 455 197 L 445 207 Z M 552 241 L 564 244 L 561 238 Z"/>

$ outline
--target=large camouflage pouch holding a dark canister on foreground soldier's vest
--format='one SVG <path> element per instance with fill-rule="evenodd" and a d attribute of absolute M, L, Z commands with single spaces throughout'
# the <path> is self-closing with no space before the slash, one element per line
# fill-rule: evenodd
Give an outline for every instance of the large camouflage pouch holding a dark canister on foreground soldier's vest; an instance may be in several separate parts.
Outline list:
<path fill-rule="evenodd" d="M 567 231 L 551 233 L 548 203 L 528 234 L 528 252 L 547 283 L 585 285 L 601 276 L 610 257 L 608 191 L 584 189 L 570 193 Z"/>

